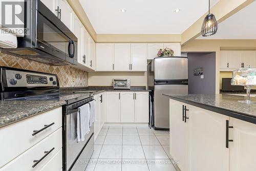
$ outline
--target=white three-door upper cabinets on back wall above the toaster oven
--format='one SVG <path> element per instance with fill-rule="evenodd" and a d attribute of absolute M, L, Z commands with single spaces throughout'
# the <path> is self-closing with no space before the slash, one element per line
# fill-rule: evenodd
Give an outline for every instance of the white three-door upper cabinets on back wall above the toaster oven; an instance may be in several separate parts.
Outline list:
<path fill-rule="evenodd" d="M 96 46 L 96 71 L 146 71 L 146 44 L 104 44 Z"/>

